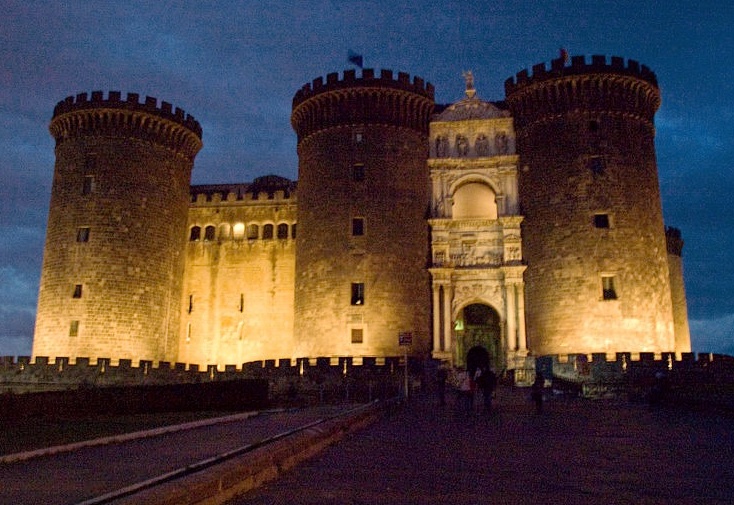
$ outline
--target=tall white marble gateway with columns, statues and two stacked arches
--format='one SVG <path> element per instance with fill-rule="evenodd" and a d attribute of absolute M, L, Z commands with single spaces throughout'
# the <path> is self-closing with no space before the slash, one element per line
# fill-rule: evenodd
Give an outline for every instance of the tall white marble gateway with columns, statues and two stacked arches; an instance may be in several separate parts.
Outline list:
<path fill-rule="evenodd" d="M 453 367 L 526 368 L 519 156 L 509 113 L 466 97 L 429 127 L 431 355 Z"/>

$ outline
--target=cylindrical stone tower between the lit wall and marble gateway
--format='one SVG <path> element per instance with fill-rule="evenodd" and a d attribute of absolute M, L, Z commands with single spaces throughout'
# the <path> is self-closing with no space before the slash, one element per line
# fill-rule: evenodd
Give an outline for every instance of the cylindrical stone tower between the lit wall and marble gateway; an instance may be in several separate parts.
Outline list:
<path fill-rule="evenodd" d="M 433 87 L 365 69 L 306 84 L 298 135 L 299 356 L 430 351 L 428 122 Z"/>

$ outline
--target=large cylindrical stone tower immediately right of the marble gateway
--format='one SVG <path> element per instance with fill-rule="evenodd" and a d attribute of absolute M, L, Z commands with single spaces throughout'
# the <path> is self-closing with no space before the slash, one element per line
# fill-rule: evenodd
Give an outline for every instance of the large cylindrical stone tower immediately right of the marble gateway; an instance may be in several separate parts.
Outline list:
<path fill-rule="evenodd" d="M 505 83 L 520 155 L 537 355 L 675 349 L 655 158 L 655 74 L 574 57 Z"/>

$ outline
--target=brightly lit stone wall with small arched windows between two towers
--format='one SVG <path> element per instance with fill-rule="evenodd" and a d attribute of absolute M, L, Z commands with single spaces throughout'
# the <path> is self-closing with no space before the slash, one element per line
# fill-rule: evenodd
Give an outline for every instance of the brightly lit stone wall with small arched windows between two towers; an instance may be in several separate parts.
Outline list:
<path fill-rule="evenodd" d="M 295 183 L 268 176 L 191 194 L 176 359 L 204 366 L 293 356 Z"/>

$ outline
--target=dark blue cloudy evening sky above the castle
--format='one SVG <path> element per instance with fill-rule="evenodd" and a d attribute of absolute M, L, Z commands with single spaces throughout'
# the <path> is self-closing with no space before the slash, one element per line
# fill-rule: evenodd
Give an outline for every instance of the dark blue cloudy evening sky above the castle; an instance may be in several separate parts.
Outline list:
<path fill-rule="evenodd" d="M 29 354 L 53 141 L 68 95 L 136 92 L 196 117 L 194 183 L 296 178 L 293 94 L 348 68 L 403 71 L 462 98 L 504 98 L 506 78 L 572 55 L 635 59 L 658 75 L 666 224 L 683 232 L 696 351 L 734 354 L 734 4 L 720 0 L 0 1 L 0 355 Z"/>

